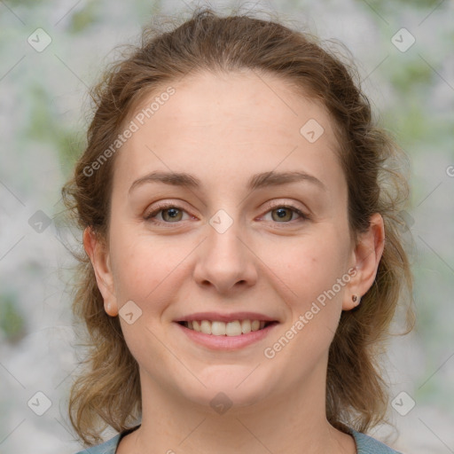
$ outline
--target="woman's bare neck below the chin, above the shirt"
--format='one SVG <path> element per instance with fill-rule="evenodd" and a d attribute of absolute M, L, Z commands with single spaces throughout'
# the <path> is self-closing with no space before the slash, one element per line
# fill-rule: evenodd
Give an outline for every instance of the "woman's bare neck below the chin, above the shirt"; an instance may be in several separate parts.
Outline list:
<path fill-rule="evenodd" d="M 312 380 L 318 376 L 314 373 Z M 121 454 L 356 453 L 353 437 L 326 420 L 325 382 L 308 383 L 306 387 L 295 383 L 284 394 L 267 393 L 256 402 L 232 403 L 227 410 L 209 403 L 200 405 L 199 398 L 195 402 L 182 398 L 142 371 L 141 387 L 141 427 L 125 437 L 129 437 L 130 449 L 118 450 Z M 203 392 L 210 395 L 209 400 L 217 394 L 206 389 Z M 215 402 L 226 404 L 227 400 L 219 396 Z"/>

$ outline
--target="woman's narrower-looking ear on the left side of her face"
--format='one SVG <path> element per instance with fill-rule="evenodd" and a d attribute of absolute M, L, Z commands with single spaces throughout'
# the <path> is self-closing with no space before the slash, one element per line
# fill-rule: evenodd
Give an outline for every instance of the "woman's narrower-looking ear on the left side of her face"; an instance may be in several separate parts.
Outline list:
<path fill-rule="evenodd" d="M 109 316 L 115 317 L 118 315 L 118 304 L 107 247 L 104 241 L 97 238 L 96 233 L 90 227 L 83 231 L 83 247 L 93 265 L 99 292 L 104 298 L 104 309 Z"/>

